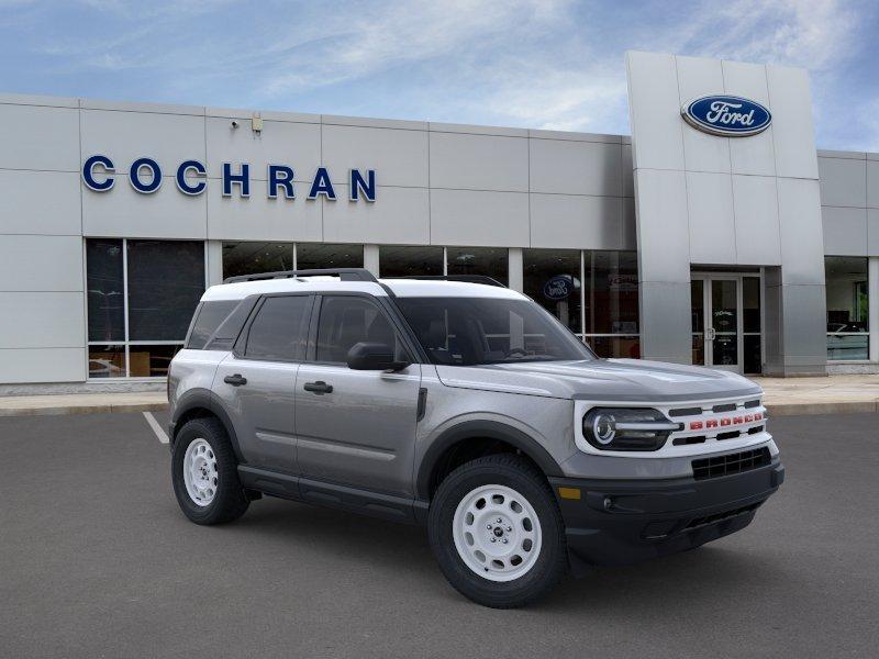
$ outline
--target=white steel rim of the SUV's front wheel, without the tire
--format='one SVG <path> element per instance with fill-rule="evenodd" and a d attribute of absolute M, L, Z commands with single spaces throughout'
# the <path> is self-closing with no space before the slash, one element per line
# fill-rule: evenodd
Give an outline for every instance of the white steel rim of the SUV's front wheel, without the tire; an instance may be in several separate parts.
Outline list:
<path fill-rule="evenodd" d="M 452 522 L 464 563 L 489 581 L 513 581 L 541 556 L 541 521 L 522 494 L 505 485 L 480 485 L 458 503 Z"/>

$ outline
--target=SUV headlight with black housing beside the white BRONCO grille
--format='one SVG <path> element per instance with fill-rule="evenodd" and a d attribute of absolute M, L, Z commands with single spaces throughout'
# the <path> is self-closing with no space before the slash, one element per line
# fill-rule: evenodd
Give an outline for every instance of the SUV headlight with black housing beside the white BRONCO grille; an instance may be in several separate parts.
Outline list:
<path fill-rule="evenodd" d="M 680 429 L 658 410 L 592 407 L 583 416 L 583 437 L 600 450 L 658 450 Z"/>

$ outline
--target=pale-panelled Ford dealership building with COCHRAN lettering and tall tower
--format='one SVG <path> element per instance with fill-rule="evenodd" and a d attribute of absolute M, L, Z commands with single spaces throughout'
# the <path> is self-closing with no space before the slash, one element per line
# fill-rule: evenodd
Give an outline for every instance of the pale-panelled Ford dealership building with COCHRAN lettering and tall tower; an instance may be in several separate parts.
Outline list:
<path fill-rule="evenodd" d="M 0 96 L 0 395 L 164 386 L 204 288 L 488 275 L 602 357 L 879 372 L 879 154 L 803 69 L 626 55 L 632 135 Z"/>

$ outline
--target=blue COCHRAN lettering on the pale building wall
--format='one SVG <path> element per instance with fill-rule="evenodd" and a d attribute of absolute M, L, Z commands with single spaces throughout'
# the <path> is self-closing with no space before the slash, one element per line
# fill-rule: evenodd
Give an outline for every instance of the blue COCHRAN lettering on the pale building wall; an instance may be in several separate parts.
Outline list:
<path fill-rule="evenodd" d="M 115 185 L 116 168 L 109 157 L 94 155 L 86 158 L 82 164 L 82 182 L 89 190 L 109 192 Z M 265 185 L 269 199 L 296 199 L 293 168 L 287 165 L 268 165 L 266 168 Z M 163 171 L 153 158 L 137 158 L 127 170 L 129 183 L 142 194 L 152 194 L 162 187 Z M 208 187 L 208 169 L 200 160 L 183 160 L 174 170 L 177 189 L 183 194 L 194 197 L 204 192 Z M 223 163 L 223 172 L 216 181 L 223 187 L 223 197 L 232 197 L 233 189 L 237 189 L 240 197 L 251 196 L 251 165 L 248 163 Z M 263 183 L 263 181 L 254 181 Z M 345 181 L 348 186 L 351 201 L 376 201 L 376 170 L 351 169 Z M 325 197 L 335 201 L 336 191 L 326 167 L 318 167 L 308 185 L 308 199 Z"/>

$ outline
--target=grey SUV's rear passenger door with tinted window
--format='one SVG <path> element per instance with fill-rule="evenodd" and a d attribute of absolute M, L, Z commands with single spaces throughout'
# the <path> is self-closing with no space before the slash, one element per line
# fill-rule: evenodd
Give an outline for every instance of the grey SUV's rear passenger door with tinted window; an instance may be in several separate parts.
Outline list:
<path fill-rule="evenodd" d="M 296 378 L 305 355 L 313 295 L 266 295 L 214 378 L 244 460 L 296 472 Z"/>

